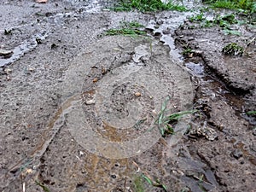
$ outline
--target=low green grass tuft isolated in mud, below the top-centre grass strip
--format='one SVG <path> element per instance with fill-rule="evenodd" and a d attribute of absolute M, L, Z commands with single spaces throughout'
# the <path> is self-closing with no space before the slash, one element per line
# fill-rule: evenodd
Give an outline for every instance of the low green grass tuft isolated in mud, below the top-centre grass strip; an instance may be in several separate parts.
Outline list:
<path fill-rule="evenodd" d="M 131 22 L 122 21 L 120 22 L 119 28 L 109 29 L 104 32 L 104 35 L 130 35 L 130 36 L 138 36 L 138 35 L 146 35 L 147 32 L 143 31 L 142 24 L 138 23 L 136 20 Z"/>

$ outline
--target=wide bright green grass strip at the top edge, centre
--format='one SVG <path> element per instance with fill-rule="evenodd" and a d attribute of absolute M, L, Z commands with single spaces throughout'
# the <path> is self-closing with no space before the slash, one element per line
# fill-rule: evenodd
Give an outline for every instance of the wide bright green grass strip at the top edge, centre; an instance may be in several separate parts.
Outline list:
<path fill-rule="evenodd" d="M 121 0 L 120 3 L 113 9 L 115 11 L 131 11 L 137 9 L 141 12 L 163 10 L 188 10 L 181 4 L 172 3 L 171 0 L 168 3 L 163 3 L 160 0 Z"/>

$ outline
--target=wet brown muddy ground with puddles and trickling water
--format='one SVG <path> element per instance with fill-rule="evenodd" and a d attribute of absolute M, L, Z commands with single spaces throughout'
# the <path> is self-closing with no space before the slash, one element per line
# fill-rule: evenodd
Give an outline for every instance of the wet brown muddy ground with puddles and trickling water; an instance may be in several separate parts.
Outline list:
<path fill-rule="evenodd" d="M 164 191 L 143 174 L 167 191 L 254 191 L 255 28 L 225 36 L 189 29 L 191 13 L 102 10 L 110 4 L 0 3 L 0 49 L 12 51 L 0 57 L 0 190 Z M 148 37 L 101 35 L 122 20 Z M 248 55 L 224 55 L 230 42 Z M 154 119 L 166 96 L 169 113 L 198 112 L 163 138 Z"/>

